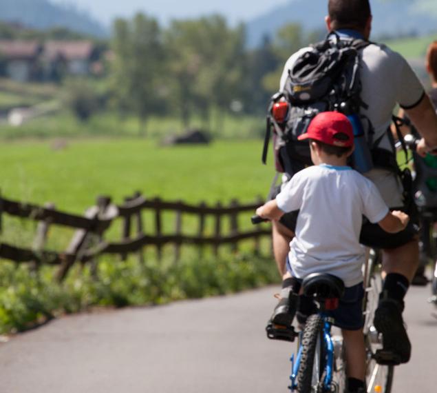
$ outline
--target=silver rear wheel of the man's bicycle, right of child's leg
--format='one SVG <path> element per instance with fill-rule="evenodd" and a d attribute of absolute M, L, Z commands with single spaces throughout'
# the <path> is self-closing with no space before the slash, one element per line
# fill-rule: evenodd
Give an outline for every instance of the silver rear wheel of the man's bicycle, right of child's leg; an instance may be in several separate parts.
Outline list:
<path fill-rule="evenodd" d="M 380 365 L 374 360 L 376 350 L 382 348 L 381 334 L 373 325 L 375 310 L 378 307 L 379 294 L 383 288 L 381 277 L 381 263 L 379 253 L 370 250 L 365 269 L 365 298 L 364 298 L 364 337 L 366 347 L 366 385 L 367 393 L 390 393 L 392 391 L 394 367 Z"/>

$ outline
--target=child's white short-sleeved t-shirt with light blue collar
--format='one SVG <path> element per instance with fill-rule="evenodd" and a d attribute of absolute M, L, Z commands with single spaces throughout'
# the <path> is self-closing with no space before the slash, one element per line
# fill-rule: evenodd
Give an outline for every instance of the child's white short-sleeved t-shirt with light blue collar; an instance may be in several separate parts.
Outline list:
<path fill-rule="evenodd" d="M 284 212 L 299 210 L 288 255 L 293 276 L 326 272 L 346 287 L 363 281 L 363 215 L 377 223 L 389 211 L 372 181 L 350 167 L 314 165 L 297 172 L 276 201 Z"/>

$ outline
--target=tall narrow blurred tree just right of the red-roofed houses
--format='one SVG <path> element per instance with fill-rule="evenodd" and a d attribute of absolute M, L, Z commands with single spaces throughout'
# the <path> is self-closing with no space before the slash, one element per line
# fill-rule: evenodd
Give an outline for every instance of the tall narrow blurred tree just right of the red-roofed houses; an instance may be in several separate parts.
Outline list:
<path fill-rule="evenodd" d="M 160 108 L 164 62 L 161 40 L 158 22 L 145 14 L 136 14 L 131 21 L 114 22 L 114 101 L 121 112 L 136 114 L 141 134 L 145 133 L 149 116 Z"/>

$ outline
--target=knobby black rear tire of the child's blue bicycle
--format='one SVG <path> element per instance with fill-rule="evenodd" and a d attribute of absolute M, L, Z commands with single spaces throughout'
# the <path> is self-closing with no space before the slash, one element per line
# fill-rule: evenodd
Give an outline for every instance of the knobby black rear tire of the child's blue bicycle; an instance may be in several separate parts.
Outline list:
<path fill-rule="evenodd" d="M 297 371 L 297 392 L 315 393 L 321 391 L 323 374 L 323 319 L 321 315 L 311 315 L 306 321 L 302 335 L 302 353 Z"/>

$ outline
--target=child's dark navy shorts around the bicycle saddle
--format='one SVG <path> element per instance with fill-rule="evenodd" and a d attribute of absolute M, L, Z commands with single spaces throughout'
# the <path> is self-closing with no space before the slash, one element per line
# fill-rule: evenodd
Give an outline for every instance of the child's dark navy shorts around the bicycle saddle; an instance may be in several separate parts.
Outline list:
<path fill-rule="evenodd" d="M 345 289 L 343 297 L 339 300 L 336 310 L 327 311 L 326 314 L 334 319 L 334 326 L 345 330 L 360 330 L 364 325 L 363 316 L 363 283 Z M 299 312 L 304 315 L 313 314 L 315 306 L 307 296 L 301 296 Z"/>

